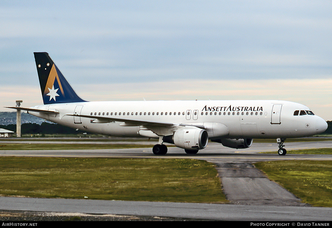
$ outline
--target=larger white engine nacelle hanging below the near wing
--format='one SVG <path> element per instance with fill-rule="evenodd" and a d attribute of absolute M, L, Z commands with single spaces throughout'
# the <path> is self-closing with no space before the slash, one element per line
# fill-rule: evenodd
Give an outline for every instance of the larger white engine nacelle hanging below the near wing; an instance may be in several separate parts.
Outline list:
<path fill-rule="evenodd" d="M 173 135 L 164 136 L 163 141 L 183 149 L 201 150 L 207 146 L 208 134 L 203 129 L 181 129 Z"/>

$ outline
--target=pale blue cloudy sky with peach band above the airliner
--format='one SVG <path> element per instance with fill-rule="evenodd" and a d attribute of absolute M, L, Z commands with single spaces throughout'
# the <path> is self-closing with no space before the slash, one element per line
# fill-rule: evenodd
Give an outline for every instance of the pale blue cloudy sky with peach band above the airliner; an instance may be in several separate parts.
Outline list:
<path fill-rule="evenodd" d="M 6 1 L 0 112 L 42 104 L 33 52 L 88 101 L 286 100 L 332 120 L 331 1 Z"/>

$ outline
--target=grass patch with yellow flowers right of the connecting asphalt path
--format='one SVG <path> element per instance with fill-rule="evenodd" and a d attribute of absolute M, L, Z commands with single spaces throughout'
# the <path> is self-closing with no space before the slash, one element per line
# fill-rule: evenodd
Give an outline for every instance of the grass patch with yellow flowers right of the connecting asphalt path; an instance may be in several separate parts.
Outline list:
<path fill-rule="evenodd" d="M 332 207 L 332 161 L 271 161 L 255 166 L 304 203 Z"/>

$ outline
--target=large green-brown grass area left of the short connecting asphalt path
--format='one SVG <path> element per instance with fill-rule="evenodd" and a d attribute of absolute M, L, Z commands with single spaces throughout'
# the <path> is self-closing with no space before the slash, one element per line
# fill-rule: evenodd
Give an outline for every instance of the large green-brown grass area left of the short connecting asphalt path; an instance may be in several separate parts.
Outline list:
<path fill-rule="evenodd" d="M 191 159 L 0 157 L 0 194 L 226 202 L 213 165 Z"/>

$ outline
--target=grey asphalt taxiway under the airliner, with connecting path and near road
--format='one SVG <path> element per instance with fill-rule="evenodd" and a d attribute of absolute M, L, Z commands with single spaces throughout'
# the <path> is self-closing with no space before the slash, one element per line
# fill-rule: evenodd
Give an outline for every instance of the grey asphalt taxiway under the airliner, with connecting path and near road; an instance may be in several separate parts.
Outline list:
<path fill-rule="evenodd" d="M 332 141 L 285 143 L 285 148 L 288 151 L 291 149 L 332 148 Z M 299 154 L 279 156 L 277 149 L 277 143 L 253 143 L 250 148 L 242 150 L 223 147 L 218 143 L 209 143 L 207 148 L 200 150 L 196 155 L 187 155 L 183 149 L 168 147 L 168 152 L 164 156 L 154 155 L 152 148 L 56 151 L 1 150 L 0 156 L 188 158 L 207 160 L 216 165 L 230 204 L 0 197 L 0 210 L 101 213 L 216 220 L 331 221 L 332 208 L 310 207 L 301 203 L 292 193 L 267 179 L 261 171 L 255 169 L 253 163 L 286 159 L 332 161 L 332 156 Z M 274 153 L 259 153 L 265 151 L 274 151 Z"/>

